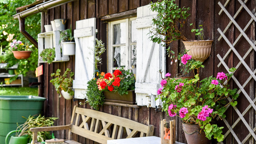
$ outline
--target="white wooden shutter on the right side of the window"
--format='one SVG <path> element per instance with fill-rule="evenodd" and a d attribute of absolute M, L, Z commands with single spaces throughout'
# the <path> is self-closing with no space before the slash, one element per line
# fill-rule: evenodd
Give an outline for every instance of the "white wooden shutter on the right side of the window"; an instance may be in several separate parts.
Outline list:
<path fill-rule="evenodd" d="M 137 63 L 135 93 L 137 105 L 155 107 L 161 105 L 155 101 L 157 90 L 162 80 L 159 69 L 165 74 L 165 47 L 153 43 L 149 31 L 153 29 L 152 19 L 156 12 L 150 10 L 150 5 L 137 8 Z"/>

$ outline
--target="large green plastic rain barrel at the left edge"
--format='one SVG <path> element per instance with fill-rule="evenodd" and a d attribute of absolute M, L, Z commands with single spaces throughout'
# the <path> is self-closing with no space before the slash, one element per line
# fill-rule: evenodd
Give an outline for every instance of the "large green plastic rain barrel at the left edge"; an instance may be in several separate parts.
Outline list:
<path fill-rule="evenodd" d="M 0 96 L 0 144 L 5 143 L 8 132 L 24 124 L 25 118 L 42 111 L 46 98 L 38 96 Z M 10 139 L 9 139 L 10 140 Z"/>

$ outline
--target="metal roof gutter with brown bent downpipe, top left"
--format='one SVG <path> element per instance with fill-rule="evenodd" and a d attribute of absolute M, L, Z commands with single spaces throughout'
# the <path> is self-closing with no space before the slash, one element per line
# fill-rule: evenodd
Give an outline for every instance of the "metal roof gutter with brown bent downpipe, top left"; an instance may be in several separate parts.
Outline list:
<path fill-rule="evenodd" d="M 23 12 L 19 12 L 13 15 L 13 17 L 14 19 L 19 19 L 21 34 L 24 35 L 32 44 L 34 44 L 38 48 L 37 41 L 31 35 L 29 35 L 28 32 L 25 30 L 25 18 L 31 15 L 34 15 L 36 13 L 44 12 L 54 7 L 57 7 L 69 2 L 73 2 L 73 1 L 76 1 L 76 0 L 50 0 L 45 3 L 38 4 L 35 7 L 32 7 Z"/>

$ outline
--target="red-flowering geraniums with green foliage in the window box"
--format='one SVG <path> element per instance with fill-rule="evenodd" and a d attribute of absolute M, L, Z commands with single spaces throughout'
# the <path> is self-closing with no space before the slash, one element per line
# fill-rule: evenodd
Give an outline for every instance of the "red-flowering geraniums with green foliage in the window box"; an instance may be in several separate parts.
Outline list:
<path fill-rule="evenodd" d="M 97 80 L 100 91 L 116 91 L 120 95 L 128 94 L 135 89 L 135 78 L 129 70 L 115 70 L 111 73 L 101 73 Z"/>

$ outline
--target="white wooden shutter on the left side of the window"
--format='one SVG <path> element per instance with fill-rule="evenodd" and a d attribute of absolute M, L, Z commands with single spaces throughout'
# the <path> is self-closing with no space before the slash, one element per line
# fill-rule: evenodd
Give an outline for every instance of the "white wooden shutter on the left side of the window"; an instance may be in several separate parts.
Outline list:
<path fill-rule="evenodd" d="M 76 21 L 74 37 L 76 42 L 75 59 L 75 99 L 84 99 L 87 82 L 94 78 L 94 51 L 96 18 Z"/>

